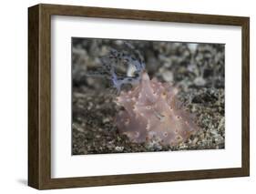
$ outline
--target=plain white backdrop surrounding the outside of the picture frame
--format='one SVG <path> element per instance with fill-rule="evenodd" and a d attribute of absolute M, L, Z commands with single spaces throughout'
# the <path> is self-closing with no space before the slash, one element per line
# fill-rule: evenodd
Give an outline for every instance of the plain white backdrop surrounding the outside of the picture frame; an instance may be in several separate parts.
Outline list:
<path fill-rule="evenodd" d="M 18 191 L 19 193 L 36 193 L 35 189 L 26 187 L 27 164 L 27 6 L 36 5 L 37 1 L 14 1 L 2 3 L 0 8 L 1 20 L 1 131 L 0 136 L 0 182 L 1 193 Z M 95 5 L 134 9 L 151 9 L 162 11 L 191 12 L 201 14 L 220 15 L 249 15 L 251 16 L 251 177 L 235 179 L 210 179 L 179 181 L 168 183 L 140 184 L 127 186 L 111 186 L 87 189 L 50 190 L 46 193 L 120 193 L 120 192 L 197 192 L 224 193 L 241 190 L 252 193 L 255 188 L 256 169 L 255 147 L 256 134 L 256 90 L 252 83 L 256 81 L 255 56 L 256 52 L 255 28 L 256 13 L 253 1 L 202 1 L 202 0 L 87 0 L 85 1 L 44 1 L 67 5 Z M 254 87 L 254 88 L 253 88 Z M 3 125 L 4 124 L 4 125 Z"/>

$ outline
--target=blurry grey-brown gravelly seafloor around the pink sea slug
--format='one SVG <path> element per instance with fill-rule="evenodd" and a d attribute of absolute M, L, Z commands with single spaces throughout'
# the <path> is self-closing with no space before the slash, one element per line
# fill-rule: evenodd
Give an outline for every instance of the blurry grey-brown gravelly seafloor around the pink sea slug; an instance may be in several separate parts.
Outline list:
<path fill-rule="evenodd" d="M 200 130 L 178 146 L 133 143 L 118 132 L 115 103 L 104 77 L 87 77 L 100 56 L 123 41 L 72 40 L 72 154 L 128 153 L 225 146 L 224 45 L 130 41 L 145 58 L 149 77 L 179 88 L 178 98 L 196 115 Z"/>

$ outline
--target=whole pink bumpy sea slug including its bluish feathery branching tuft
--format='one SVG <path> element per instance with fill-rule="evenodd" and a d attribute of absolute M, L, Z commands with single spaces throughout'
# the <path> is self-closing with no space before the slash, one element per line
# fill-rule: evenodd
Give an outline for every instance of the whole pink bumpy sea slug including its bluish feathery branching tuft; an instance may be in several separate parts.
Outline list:
<path fill-rule="evenodd" d="M 144 58 L 134 46 L 124 45 L 130 53 L 111 49 L 108 56 L 101 57 L 97 71 L 87 72 L 87 76 L 105 77 L 116 88 L 116 102 L 124 107 L 116 117 L 119 132 L 136 143 L 157 141 L 176 146 L 186 141 L 199 128 L 177 99 L 178 89 L 156 78 L 150 80 Z M 125 75 L 117 73 L 119 67 L 127 68 Z M 121 91 L 125 85 L 132 88 Z"/>

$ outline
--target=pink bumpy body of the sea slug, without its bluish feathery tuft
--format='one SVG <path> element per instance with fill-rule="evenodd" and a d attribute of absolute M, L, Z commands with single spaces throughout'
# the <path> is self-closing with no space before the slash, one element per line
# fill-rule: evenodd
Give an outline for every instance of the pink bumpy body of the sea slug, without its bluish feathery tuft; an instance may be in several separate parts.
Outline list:
<path fill-rule="evenodd" d="M 178 89 L 144 72 L 137 87 L 121 92 L 119 106 L 125 109 L 116 117 L 118 130 L 132 142 L 157 141 L 176 146 L 199 130 L 193 116 L 181 106 Z"/>

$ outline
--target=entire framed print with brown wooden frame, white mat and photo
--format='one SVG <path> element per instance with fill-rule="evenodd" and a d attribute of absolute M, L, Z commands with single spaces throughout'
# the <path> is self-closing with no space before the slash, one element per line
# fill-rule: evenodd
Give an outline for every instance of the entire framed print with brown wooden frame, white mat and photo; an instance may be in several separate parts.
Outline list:
<path fill-rule="evenodd" d="M 28 185 L 250 174 L 250 20 L 28 8 Z"/>

